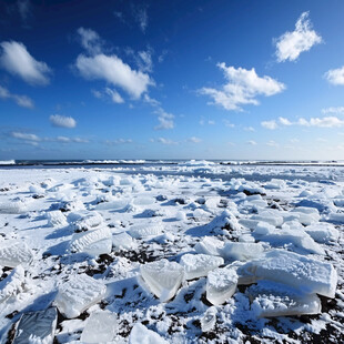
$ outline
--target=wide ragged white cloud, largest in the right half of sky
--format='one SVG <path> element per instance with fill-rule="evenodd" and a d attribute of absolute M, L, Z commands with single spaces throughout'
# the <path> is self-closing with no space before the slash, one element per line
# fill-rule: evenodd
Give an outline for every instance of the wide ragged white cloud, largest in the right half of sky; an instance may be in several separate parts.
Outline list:
<path fill-rule="evenodd" d="M 251 70 L 235 69 L 234 67 L 226 67 L 225 63 L 217 63 L 217 67 L 223 71 L 227 83 L 220 90 L 202 88 L 199 92 L 210 95 L 213 99 L 211 104 L 221 105 L 225 110 L 242 111 L 241 105 L 257 105 L 256 97 L 271 97 L 285 89 L 282 82 L 271 77 L 259 77 L 254 68 Z"/>

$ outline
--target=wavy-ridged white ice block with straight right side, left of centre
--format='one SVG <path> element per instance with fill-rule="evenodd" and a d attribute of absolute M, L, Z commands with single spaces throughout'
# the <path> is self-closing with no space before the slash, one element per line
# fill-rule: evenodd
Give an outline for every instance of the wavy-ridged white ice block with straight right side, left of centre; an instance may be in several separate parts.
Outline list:
<path fill-rule="evenodd" d="M 109 227 L 73 234 L 69 250 L 71 253 L 100 255 L 112 250 L 112 234 Z"/>

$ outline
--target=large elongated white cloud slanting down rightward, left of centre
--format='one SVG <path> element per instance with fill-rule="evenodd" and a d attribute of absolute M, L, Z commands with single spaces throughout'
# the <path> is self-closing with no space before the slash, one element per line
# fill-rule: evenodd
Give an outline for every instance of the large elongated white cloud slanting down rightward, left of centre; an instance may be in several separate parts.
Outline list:
<path fill-rule="evenodd" d="M 132 70 L 129 64 L 114 54 L 100 53 L 93 57 L 80 54 L 75 67 L 84 79 L 104 80 L 123 89 L 134 99 L 139 99 L 142 93 L 148 91 L 149 85 L 154 84 L 149 74 Z"/>

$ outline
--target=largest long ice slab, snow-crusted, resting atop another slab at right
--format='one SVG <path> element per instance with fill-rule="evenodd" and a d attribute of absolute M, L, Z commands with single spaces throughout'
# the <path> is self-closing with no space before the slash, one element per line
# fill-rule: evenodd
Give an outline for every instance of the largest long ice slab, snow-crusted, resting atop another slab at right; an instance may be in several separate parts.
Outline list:
<path fill-rule="evenodd" d="M 296 253 L 273 250 L 247 262 L 237 273 L 255 280 L 271 280 L 291 285 L 306 294 L 334 297 L 337 273 L 330 263 Z"/>

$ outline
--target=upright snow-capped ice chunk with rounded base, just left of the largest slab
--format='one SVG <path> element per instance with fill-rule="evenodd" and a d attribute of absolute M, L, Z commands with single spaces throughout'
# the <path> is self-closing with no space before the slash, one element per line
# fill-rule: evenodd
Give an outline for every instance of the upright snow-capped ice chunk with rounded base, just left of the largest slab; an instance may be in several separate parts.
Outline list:
<path fill-rule="evenodd" d="M 219 267 L 206 277 L 206 300 L 213 305 L 223 304 L 236 289 L 237 274 L 234 269 Z"/>

